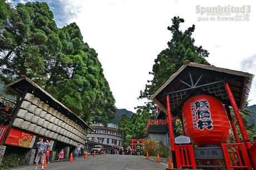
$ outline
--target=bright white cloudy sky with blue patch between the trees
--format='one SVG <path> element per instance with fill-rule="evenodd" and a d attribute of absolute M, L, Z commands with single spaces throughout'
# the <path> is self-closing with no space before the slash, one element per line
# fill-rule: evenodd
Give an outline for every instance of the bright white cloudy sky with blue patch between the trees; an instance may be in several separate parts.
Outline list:
<path fill-rule="evenodd" d="M 137 97 L 147 80 L 152 79 L 149 72 L 157 54 L 167 48 L 171 39 L 167 27 L 174 16 L 184 18 L 183 31 L 195 24 L 195 45 L 208 50 L 211 64 L 256 74 L 255 1 L 44 2 L 53 11 L 58 27 L 76 22 L 83 40 L 99 54 L 117 108 L 135 111 L 134 107 L 145 102 Z M 223 16 L 231 21 L 223 21 Z M 249 105 L 256 104 L 255 78 L 248 100 Z"/>

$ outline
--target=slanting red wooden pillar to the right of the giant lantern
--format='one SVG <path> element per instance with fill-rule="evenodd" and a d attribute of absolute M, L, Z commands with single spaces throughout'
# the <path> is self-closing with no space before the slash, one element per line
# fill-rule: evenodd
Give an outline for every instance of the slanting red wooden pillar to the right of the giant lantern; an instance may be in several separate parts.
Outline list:
<path fill-rule="evenodd" d="M 235 117 L 237 118 L 238 126 L 239 126 L 240 132 L 242 134 L 245 146 L 248 149 L 249 148 L 249 146 L 248 146 L 249 137 L 248 137 L 247 131 L 245 130 L 242 117 L 240 116 L 240 113 L 239 113 L 239 110 L 238 110 L 238 107 L 237 107 L 237 103 L 235 103 L 235 99 L 234 99 L 232 91 L 229 87 L 228 82 L 224 82 L 224 85 L 225 85 L 226 91 L 228 93 L 229 101 L 230 101 L 231 106 L 234 110 Z"/>

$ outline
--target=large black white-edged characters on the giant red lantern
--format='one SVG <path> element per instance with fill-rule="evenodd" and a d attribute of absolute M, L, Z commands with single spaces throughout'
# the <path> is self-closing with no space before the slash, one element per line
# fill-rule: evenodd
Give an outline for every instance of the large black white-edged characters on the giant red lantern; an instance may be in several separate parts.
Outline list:
<path fill-rule="evenodd" d="M 190 103 L 190 107 L 195 130 L 200 129 L 203 131 L 204 128 L 213 129 L 213 120 L 211 119 L 211 112 L 209 110 L 210 104 L 207 100 Z"/>

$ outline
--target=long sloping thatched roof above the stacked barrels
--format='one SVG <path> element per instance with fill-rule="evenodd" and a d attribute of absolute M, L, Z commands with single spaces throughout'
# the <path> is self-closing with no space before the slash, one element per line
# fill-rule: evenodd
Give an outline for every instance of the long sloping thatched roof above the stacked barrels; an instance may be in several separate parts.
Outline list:
<path fill-rule="evenodd" d="M 56 109 L 57 111 L 65 114 L 66 117 L 70 118 L 72 121 L 79 124 L 83 129 L 91 129 L 88 124 L 86 124 L 80 117 L 78 117 L 75 113 L 73 113 L 69 108 L 67 108 L 64 104 L 59 102 L 56 98 L 52 97 L 51 94 L 47 93 L 44 89 L 38 86 L 31 79 L 26 76 L 14 81 L 6 86 L 9 91 L 13 93 L 23 94 L 33 93 L 35 96 L 40 98 L 41 101 L 49 104 L 50 107 Z M 91 129 L 92 130 L 92 129 Z"/>

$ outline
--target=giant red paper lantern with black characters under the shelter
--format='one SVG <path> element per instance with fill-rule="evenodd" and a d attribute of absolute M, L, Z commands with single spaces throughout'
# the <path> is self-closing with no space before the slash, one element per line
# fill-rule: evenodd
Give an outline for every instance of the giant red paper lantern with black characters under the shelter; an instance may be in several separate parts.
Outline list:
<path fill-rule="evenodd" d="M 230 138 L 227 112 L 219 99 L 205 94 L 189 98 L 182 109 L 184 133 L 196 146 L 220 144 Z"/>

